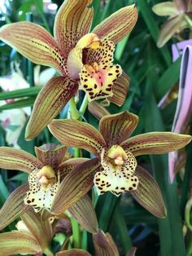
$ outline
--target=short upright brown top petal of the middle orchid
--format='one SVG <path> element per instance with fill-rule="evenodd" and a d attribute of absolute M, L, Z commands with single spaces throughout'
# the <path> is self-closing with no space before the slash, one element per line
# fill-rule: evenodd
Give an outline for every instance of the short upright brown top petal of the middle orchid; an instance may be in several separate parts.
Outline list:
<path fill-rule="evenodd" d="M 122 113 L 105 116 L 99 122 L 99 130 L 107 146 L 120 144 L 132 134 L 138 122 L 138 117 L 133 113 Z"/>

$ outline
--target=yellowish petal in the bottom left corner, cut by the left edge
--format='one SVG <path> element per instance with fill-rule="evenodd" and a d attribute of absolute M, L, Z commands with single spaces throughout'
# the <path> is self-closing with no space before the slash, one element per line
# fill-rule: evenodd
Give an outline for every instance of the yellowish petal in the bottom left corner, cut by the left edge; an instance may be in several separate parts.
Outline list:
<path fill-rule="evenodd" d="M 27 232 L 12 231 L 0 234 L 1 255 L 39 254 L 41 247 Z"/>

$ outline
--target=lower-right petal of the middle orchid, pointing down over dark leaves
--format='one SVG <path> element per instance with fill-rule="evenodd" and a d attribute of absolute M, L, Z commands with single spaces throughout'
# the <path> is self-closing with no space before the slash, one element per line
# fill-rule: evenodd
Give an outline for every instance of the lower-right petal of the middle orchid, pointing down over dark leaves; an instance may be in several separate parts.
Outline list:
<path fill-rule="evenodd" d="M 141 166 L 137 166 L 135 174 L 139 183 L 137 189 L 130 192 L 131 195 L 151 214 L 158 218 L 166 217 L 164 199 L 155 179 Z"/>

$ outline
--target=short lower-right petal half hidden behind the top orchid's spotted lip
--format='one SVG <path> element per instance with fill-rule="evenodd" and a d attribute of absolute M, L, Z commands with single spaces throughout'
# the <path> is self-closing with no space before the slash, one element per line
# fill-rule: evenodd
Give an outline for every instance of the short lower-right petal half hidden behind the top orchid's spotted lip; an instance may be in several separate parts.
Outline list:
<path fill-rule="evenodd" d="M 107 99 L 111 101 L 111 103 L 121 107 L 124 104 L 124 100 L 127 97 L 127 93 L 129 90 L 129 83 L 130 83 L 130 78 L 126 73 L 123 72 L 120 75 L 120 77 L 116 79 L 116 82 L 114 82 L 113 84 L 113 87 L 112 87 L 113 96 L 108 97 Z"/>

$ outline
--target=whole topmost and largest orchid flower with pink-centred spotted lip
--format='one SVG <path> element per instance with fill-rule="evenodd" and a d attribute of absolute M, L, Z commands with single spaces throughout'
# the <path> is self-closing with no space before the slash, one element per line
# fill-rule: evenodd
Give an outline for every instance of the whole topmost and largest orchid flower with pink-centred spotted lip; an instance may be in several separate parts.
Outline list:
<path fill-rule="evenodd" d="M 122 105 L 129 77 L 113 65 L 115 44 L 133 29 L 135 5 L 124 7 L 89 33 L 92 0 L 66 0 L 55 16 L 54 37 L 37 24 L 18 22 L 0 29 L 0 39 L 36 64 L 51 66 L 60 77 L 47 82 L 37 96 L 26 138 L 33 139 L 62 110 L 79 88 L 92 101 L 108 97 Z"/>

